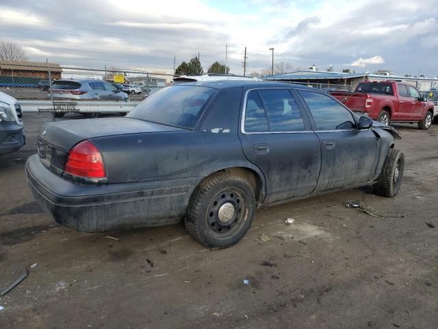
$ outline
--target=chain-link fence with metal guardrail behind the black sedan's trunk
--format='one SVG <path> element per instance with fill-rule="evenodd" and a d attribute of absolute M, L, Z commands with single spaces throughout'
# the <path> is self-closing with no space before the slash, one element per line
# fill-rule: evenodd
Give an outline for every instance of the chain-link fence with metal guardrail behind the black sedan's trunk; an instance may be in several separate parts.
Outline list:
<path fill-rule="evenodd" d="M 125 115 L 170 81 L 170 74 L 133 69 L 0 63 L 0 91 L 52 121 Z"/>

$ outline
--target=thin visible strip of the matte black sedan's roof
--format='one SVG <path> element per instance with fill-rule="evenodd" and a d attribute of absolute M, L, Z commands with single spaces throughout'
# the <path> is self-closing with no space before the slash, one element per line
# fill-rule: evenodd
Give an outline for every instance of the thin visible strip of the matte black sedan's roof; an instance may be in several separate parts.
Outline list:
<path fill-rule="evenodd" d="M 319 90 L 313 87 L 302 86 L 301 84 L 289 84 L 286 82 L 265 82 L 260 80 L 217 80 L 217 81 L 197 81 L 197 82 L 183 82 L 175 86 L 203 86 L 216 89 L 244 87 L 244 88 L 296 88 Z M 319 90 L 320 91 L 320 90 Z"/>

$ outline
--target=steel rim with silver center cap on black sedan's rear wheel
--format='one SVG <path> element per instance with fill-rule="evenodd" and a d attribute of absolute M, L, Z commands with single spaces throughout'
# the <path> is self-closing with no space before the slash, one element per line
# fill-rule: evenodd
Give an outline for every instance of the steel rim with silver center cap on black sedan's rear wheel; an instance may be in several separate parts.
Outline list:
<path fill-rule="evenodd" d="M 242 193 L 227 188 L 211 199 L 207 210 L 207 226 L 218 237 L 232 236 L 242 227 L 246 213 Z"/>

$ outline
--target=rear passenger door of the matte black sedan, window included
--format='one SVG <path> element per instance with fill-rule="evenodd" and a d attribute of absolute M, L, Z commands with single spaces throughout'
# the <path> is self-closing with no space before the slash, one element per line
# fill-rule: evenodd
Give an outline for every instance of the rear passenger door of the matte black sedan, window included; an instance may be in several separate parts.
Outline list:
<path fill-rule="evenodd" d="M 320 142 L 291 90 L 248 90 L 240 141 L 246 158 L 265 175 L 266 202 L 313 192 L 320 173 Z"/>

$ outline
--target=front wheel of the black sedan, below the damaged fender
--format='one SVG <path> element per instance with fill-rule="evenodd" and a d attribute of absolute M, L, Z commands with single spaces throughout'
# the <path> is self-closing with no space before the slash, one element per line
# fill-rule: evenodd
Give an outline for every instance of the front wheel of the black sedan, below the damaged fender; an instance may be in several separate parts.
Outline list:
<path fill-rule="evenodd" d="M 389 149 L 381 174 L 374 184 L 374 193 L 383 197 L 395 197 L 400 191 L 404 171 L 404 154 L 399 149 Z"/>

